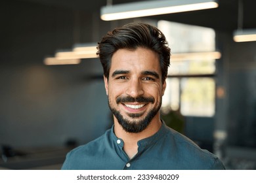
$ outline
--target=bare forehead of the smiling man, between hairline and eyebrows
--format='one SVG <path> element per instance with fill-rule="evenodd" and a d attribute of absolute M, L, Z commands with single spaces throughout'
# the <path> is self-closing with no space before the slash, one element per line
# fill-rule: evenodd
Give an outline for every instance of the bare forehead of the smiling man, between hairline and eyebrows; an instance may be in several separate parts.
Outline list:
<path fill-rule="evenodd" d="M 117 50 L 112 56 L 110 73 L 116 70 L 161 72 L 158 54 L 140 47 L 135 50 Z"/>

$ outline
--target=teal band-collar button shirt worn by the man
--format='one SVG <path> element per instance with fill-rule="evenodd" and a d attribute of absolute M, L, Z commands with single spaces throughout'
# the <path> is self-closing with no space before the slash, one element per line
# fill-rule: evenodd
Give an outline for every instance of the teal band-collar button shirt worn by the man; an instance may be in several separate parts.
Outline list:
<path fill-rule="evenodd" d="M 113 126 L 98 139 L 69 152 L 62 169 L 225 169 L 215 155 L 202 150 L 164 122 L 157 133 L 140 140 L 138 146 L 138 153 L 129 159 Z"/>

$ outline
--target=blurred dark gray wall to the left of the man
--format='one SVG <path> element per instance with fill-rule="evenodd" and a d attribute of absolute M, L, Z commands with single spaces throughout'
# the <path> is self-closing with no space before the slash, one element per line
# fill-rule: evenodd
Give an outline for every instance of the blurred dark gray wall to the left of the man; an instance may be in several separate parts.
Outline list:
<path fill-rule="evenodd" d="M 62 146 L 101 135 L 110 124 L 104 82 L 89 79 L 102 75 L 99 60 L 43 65 L 57 49 L 99 39 L 93 14 L 19 1 L 5 1 L 0 13 L 0 144 Z"/>

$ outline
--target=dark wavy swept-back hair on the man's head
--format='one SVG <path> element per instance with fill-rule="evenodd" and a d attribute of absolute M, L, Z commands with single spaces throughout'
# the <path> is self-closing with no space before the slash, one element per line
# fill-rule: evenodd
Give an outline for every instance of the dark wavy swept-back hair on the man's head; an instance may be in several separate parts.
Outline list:
<path fill-rule="evenodd" d="M 135 50 L 138 47 L 149 48 L 160 59 L 162 81 L 167 77 L 170 65 L 171 49 L 163 33 L 156 27 L 143 23 L 130 23 L 109 31 L 98 42 L 97 55 L 103 67 L 104 76 L 109 77 L 113 54 L 121 48 Z"/>

